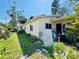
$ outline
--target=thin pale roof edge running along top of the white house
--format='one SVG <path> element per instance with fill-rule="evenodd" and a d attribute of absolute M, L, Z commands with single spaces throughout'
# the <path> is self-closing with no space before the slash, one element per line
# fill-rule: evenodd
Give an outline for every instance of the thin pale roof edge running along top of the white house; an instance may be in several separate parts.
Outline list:
<path fill-rule="evenodd" d="M 33 19 L 28 20 L 26 22 L 26 24 L 28 24 L 30 22 L 33 22 L 33 21 L 35 21 L 35 20 L 37 20 L 39 18 L 51 18 L 51 19 L 55 18 L 56 20 L 53 20 L 52 22 L 58 22 L 59 20 L 62 20 L 64 17 L 60 18 L 59 16 L 35 16 L 35 17 L 33 17 Z"/>

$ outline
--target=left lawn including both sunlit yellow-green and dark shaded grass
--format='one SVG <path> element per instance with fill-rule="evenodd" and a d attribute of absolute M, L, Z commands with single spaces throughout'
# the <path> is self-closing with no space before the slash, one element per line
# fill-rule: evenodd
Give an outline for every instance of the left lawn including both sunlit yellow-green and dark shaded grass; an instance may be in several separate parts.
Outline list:
<path fill-rule="evenodd" d="M 36 42 L 26 33 L 12 33 L 7 39 L 0 39 L 0 59 L 19 59 L 21 55 L 31 54 Z"/>

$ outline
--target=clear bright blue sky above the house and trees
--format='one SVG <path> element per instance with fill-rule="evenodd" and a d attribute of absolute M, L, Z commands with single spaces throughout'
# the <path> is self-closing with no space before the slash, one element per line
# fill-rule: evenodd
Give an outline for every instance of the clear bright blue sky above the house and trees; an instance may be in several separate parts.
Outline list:
<path fill-rule="evenodd" d="M 15 0 L 17 10 L 24 10 L 25 17 L 38 16 L 41 14 L 51 15 L 51 4 L 53 0 Z M 9 4 L 10 2 L 10 4 Z M 12 0 L 0 0 L 0 22 L 7 22 L 10 17 L 7 10 L 10 9 Z"/>

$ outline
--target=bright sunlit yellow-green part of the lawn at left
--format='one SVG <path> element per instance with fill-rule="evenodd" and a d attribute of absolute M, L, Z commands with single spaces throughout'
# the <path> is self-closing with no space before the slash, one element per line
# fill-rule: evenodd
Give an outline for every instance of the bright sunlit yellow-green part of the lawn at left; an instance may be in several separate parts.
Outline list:
<path fill-rule="evenodd" d="M 16 33 L 6 40 L 0 39 L 0 59 L 18 59 L 22 53 Z"/>

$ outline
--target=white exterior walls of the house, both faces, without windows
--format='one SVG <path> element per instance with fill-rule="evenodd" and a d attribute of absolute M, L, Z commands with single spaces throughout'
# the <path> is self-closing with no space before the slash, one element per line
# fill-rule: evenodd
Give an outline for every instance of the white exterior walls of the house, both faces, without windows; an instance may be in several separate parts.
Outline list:
<path fill-rule="evenodd" d="M 45 46 L 50 46 L 53 43 L 52 30 L 56 29 L 56 24 L 51 21 L 56 20 L 56 17 L 36 17 L 26 23 L 26 33 L 37 36 L 42 39 Z M 52 24 L 52 29 L 46 29 L 45 24 Z M 30 31 L 30 25 L 33 26 L 33 31 Z"/>

